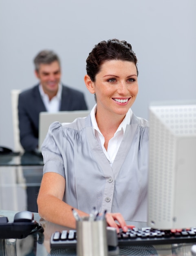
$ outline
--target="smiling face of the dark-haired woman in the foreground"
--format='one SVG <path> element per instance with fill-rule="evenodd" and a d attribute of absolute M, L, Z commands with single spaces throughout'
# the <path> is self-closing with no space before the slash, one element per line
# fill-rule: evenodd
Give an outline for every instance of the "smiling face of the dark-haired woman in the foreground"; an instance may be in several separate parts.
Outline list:
<path fill-rule="evenodd" d="M 92 86 L 99 112 L 126 115 L 138 93 L 136 66 L 130 61 L 105 61 Z"/>

